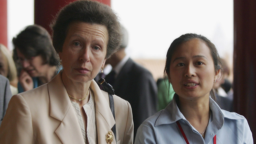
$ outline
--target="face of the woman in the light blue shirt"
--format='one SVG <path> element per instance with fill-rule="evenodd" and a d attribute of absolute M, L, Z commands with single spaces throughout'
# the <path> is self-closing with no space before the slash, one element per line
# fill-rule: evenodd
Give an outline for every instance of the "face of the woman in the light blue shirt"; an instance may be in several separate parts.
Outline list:
<path fill-rule="evenodd" d="M 201 40 L 191 39 L 174 52 L 168 78 L 180 97 L 193 100 L 209 97 L 217 75 L 209 47 Z"/>

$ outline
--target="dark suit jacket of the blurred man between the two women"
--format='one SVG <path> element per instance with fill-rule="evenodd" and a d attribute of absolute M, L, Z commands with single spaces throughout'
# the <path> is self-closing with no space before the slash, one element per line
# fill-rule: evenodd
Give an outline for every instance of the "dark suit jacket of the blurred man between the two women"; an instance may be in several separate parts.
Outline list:
<path fill-rule="evenodd" d="M 156 82 L 150 71 L 129 58 L 112 86 L 116 95 L 131 104 L 135 137 L 142 122 L 157 112 Z"/>

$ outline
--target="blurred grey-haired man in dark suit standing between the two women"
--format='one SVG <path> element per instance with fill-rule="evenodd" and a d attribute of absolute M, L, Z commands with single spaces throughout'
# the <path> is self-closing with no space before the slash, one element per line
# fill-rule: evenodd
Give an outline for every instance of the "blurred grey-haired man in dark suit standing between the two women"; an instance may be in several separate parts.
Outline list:
<path fill-rule="evenodd" d="M 135 138 L 141 123 L 157 112 L 157 85 L 150 71 L 126 55 L 128 35 L 123 27 L 122 31 L 121 48 L 106 61 L 106 64 L 111 64 L 112 71 L 106 75 L 105 80 L 113 86 L 116 95 L 131 104 Z"/>

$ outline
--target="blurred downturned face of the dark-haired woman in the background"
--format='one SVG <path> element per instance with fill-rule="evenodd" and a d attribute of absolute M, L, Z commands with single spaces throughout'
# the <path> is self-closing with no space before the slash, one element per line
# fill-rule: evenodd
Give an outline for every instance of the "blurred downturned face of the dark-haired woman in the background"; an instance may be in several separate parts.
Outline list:
<path fill-rule="evenodd" d="M 35 56 L 31 59 L 26 59 L 24 54 L 22 54 L 18 48 L 16 48 L 17 56 L 19 63 L 22 64 L 23 69 L 31 76 L 31 77 L 39 77 L 45 76 L 47 71 L 49 70 L 49 65 L 44 64 L 44 60 L 42 56 Z"/>

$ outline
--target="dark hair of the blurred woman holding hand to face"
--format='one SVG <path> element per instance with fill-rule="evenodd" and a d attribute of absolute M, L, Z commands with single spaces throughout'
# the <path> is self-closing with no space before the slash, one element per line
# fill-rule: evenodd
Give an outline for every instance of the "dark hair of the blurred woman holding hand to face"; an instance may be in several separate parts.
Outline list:
<path fill-rule="evenodd" d="M 19 49 L 27 59 L 40 55 L 44 64 L 57 66 L 59 63 L 51 36 L 46 29 L 39 25 L 27 26 L 16 38 L 13 38 L 13 45 L 13 59 L 16 63 L 18 60 L 16 49 Z"/>

